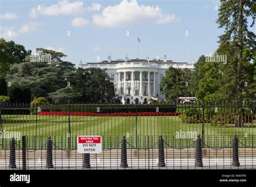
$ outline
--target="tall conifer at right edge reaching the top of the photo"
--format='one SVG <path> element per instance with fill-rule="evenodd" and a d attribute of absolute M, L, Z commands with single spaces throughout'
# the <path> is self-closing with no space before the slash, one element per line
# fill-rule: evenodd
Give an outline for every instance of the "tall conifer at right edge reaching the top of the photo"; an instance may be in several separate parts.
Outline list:
<path fill-rule="evenodd" d="M 225 93 L 230 89 L 229 99 L 241 103 L 243 95 L 250 95 L 247 93 L 250 89 L 245 87 L 245 79 L 252 80 L 249 63 L 255 60 L 253 54 L 256 53 L 256 35 L 248 30 L 247 20 L 248 18 L 252 20 L 250 27 L 253 27 L 256 5 L 249 0 L 220 0 L 220 3 L 217 23 L 219 28 L 225 28 L 225 33 L 219 37 L 220 45 L 217 53 L 226 54 L 228 59 L 224 67 L 224 82 L 220 91 Z M 231 77 L 234 81 L 231 81 Z"/>

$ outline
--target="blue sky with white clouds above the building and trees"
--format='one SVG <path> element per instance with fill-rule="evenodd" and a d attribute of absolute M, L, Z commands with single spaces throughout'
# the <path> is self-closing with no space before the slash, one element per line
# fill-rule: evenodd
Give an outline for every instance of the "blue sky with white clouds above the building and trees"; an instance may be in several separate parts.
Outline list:
<path fill-rule="evenodd" d="M 38 10 L 39 5 L 39 10 Z M 26 49 L 55 49 L 78 64 L 150 59 L 192 63 L 218 47 L 219 1 L 14 1 L 1 0 L 0 37 Z M 11 34 L 10 32 L 11 31 Z M 129 32 L 129 35 L 127 34 Z M 70 35 L 68 35 L 70 32 Z"/>

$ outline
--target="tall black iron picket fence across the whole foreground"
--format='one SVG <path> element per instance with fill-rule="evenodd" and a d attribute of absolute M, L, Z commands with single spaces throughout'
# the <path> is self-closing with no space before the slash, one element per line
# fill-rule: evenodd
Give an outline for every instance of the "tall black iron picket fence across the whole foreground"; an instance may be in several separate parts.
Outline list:
<path fill-rule="evenodd" d="M 255 109 L 1 103 L 0 169 L 254 169 Z M 78 135 L 100 135 L 102 153 L 77 153 Z"/>

